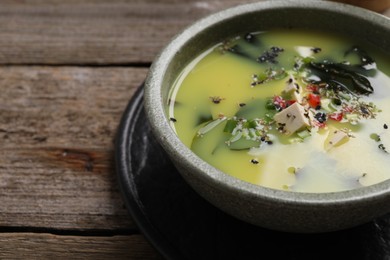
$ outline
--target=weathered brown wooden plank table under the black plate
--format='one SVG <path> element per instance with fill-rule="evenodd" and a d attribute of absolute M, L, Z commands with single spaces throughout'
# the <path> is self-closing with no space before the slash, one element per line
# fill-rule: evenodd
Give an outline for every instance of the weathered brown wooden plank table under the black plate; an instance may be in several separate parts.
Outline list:
<path fill-rule="evenodd" d="M 118 188 L 118 123 L 174 34 L 240 2 L 0 2 L 0 259 L 162 258 Z"/>

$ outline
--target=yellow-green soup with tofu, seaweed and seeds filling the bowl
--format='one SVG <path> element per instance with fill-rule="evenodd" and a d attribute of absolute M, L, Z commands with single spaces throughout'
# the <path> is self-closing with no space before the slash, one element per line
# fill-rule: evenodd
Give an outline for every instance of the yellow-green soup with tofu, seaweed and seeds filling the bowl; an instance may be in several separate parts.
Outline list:
<path fill-rule="evenodd" d="M 241 180 L 333 192 L 390 178 L 389 56 L 324 32 L 248 33 L 183 69 L 167 113 L 185 145 Z"/>

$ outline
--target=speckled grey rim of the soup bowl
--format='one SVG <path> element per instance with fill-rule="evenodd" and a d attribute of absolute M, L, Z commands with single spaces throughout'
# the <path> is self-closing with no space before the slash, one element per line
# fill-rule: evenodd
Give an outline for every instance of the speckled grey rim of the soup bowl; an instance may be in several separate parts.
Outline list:
<path fill-rule="evenodd" d="M 185 146 L 172 127 L 169 125 L 167 115 L 162 103 L 161 87 L 165 72 L 169 63 L 174 59 L 180 48 L 191 41 L 195 35 L 201 33 L 205 28 L 216 23 L 223 22 L 235 16 L 252 12 L 259 12 L 272 9 L 286 8 L 310 8 L 311 10 L 325 10 L 328 12 L 341 13 L 349 17 L 366 20 L 376 26 L 383 26 L 390 30 L 390 19 L 379 13 L 369 11 L 348 4 L 322 1 L 322 0 L 277 0 L 262 1 L 256 3 L 241 4 L 228 9 L 210 14 L 199 19 L 179 32 L 160 51 L 153 61 L 145 81 L 145 110 L 146 116 L 152 127 L 155 137 L 175 161 L 186 162 L 187 167 L 197 174 L 198 178 L 216 189 L 239 191 L 248 197 L 257 197 L 268 200 L 270 203 L 283 202 L 293 205 L 345 205 L 345 203 L 361 202 L 367 203 L 376 201 L 378 198 L 390 197 L 390 179 L 370 186 L 337 192 L 307 193 L 277 190 L 261 185 L 248 183 L 218 170 L 203 161 L 187 146 Z"/>

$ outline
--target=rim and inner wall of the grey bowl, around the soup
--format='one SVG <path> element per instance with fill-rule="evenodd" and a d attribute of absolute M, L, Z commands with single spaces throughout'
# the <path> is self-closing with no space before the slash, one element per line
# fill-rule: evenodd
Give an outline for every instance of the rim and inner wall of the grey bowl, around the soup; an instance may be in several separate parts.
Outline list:
<path fill-rule="evenodd" d="M 303 28 L 336 32 L 364 39 L 390 53 L 390 22 L 379 14 L 325 1 L 266 1 L 241 5 L 206 17 L 176 36 L 153 63 L 146 85 L 146 110 L 152 129 L 168 154 L 178 163 L 200 173 L 210 185 L 241 189 L 251 196 L 304 203 L 338 203 L 371 199 L 388 193 L 390 181 L 362 189 L 324 194 L 275 191 L 251 185 L 221 173 L 185 147 L 168 124 L 164 105 L 173 82 L 182 69 L 206 49 L 230 37 L 273 28 Z M 202 173 L 207 174 L 202 174 Z M 370 194 L 370 195 L 368 195 Z"/>

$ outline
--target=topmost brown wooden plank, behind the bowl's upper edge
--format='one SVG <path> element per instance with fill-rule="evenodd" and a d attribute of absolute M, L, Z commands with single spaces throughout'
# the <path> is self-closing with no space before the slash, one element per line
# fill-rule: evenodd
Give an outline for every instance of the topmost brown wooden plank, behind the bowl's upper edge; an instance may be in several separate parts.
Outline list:
<path fill-rule="evenodd" d="M 186 25 L 239 3 L 1 1 L 0 64 L 149 63 Z"/>

